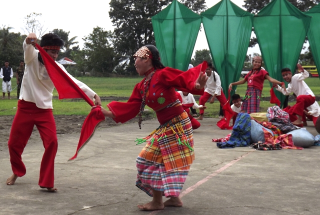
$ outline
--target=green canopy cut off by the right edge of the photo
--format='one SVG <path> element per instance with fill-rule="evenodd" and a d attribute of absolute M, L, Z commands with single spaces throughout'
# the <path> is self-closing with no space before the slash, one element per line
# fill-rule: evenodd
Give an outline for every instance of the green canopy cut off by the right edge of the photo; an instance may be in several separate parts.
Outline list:
<path fill-rule="evenodd" d="M 306 11 L 305 13 L 307 15 L 312 16 L 307 36 L 312 51 L 314 63 L 318 70 L 318 74 L 320 74 L 320 4 L 317 4 L 316 6 L 312 7 L 309 11 Z"/>

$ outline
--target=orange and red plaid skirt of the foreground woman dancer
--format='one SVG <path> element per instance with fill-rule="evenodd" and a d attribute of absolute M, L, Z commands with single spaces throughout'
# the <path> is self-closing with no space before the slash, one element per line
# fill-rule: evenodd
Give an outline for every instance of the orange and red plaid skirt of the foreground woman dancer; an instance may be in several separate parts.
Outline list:
<path fill-rule="evenodd" d="M 151 137 L 150 137 L 151 138 Z M 166 197 L 179 196 L 194 160 L 192 125 L 186 112 L 163 124 L 136 159 L 135 185 L 152 196 L 152 189 Z"/>

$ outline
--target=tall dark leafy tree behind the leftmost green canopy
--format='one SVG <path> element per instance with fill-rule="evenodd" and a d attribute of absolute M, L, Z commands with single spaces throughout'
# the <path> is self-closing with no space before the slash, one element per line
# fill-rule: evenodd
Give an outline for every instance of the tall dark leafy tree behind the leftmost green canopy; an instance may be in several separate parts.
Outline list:
<path fill-rule="evenodd" d="M 114 28 L 113 44 L 122 60 L 129 59 L 126 73 L 135 73 L 133 53 L 145 44 L 154 44 L 151 18 L 171 0 L 110 0 L 109 16 Z M 193 10 L 202 11 L 204 0 L 182 0 Z"/>

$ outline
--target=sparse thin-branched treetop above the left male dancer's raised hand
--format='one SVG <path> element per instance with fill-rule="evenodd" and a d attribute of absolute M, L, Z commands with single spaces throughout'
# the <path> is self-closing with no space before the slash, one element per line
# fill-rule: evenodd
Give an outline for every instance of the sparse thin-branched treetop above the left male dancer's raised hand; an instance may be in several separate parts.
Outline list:
<path fill-rule="evenodd" d="M 41 38 L 47 28 L 39 21 L 41 13 L 31 12 L 24 17 L 24 31 L 27 33 L 35 33 L 38 38 Z"/>

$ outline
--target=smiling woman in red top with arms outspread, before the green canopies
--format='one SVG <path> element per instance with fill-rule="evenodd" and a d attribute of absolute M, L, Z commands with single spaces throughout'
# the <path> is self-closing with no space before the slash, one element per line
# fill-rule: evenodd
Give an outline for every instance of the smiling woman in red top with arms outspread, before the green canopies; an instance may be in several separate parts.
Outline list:
<path fill-rule="evenodd" d="M 271 83 L 276 83 L 285 87 L 284 82 L 280 82 L 269 76 L 269 73 L 261 69 L 262 58 L 260 56 L 255 56 L 252 59 L 253 68 L 249 73 L 245 75 L 242 80 L 230 83 L 229 89 L 232 90 L 233 85 L 243 84 L 248 82 L 245 95 L 243 97 L 243 103 L 241 105 L 241 112 L 259 112 L 261 92 L 263 88 L 264 79 L 267 79 Z"/>

